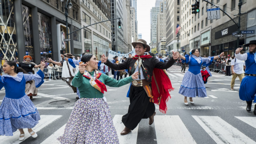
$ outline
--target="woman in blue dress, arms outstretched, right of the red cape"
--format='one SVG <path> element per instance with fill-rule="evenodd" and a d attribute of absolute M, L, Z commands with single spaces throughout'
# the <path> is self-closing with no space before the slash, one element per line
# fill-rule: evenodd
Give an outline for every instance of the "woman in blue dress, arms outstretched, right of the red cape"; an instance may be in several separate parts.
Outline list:
<path fill-rule="evenodd" d="M 194 101 L 192 100 L 193 97 L 207 97 L 206 89 L 200 72 L 202 63 L 208 65 L 213 60 L 218 59 L 223 55 L 224 53 L 222 52 L 219 56 L 202 58 L 199 57 L 198 49 L 193 49 L 190 52 L 190 56 L 183 56 L 179 54 L 179 57 L 189 64 L 189 69 L 183 77 L 183 81 L 179 90 L 179 93 L 185 96 L 185 105 L 188 105 L 187 97 L 189 97 L 189 101 L 192 104 L 194 103 Z"/>

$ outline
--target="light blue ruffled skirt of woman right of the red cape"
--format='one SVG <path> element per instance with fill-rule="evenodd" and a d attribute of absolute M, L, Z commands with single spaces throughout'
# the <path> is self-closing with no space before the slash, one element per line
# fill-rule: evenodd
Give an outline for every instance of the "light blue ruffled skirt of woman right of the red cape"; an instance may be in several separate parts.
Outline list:
<path fill-rule="evenodd" d="M 195 75 L 187 71 L 183 77 L 179 94 L 186 97 L 207 97 L 201 73 Z"/>

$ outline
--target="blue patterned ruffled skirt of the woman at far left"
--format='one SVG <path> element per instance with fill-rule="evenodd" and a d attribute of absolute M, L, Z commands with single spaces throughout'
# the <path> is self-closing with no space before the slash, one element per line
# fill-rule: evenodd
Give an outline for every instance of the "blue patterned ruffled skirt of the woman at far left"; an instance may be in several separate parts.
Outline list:
<path fill-rule="evenodd" d="M 21 128 L 33 128 L 40 115 L 27 95 L 20 99 L 4 97 L 0 106 L 0 135 L 13 136 Z"/>

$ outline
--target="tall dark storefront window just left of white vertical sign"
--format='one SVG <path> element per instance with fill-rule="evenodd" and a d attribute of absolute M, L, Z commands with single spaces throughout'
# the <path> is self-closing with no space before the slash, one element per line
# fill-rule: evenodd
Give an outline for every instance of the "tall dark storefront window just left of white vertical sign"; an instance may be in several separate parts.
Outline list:
<path fill-rule="evenodd" d="M 51 18 L 37 12 L 41 60 L 52 55 Z"/>

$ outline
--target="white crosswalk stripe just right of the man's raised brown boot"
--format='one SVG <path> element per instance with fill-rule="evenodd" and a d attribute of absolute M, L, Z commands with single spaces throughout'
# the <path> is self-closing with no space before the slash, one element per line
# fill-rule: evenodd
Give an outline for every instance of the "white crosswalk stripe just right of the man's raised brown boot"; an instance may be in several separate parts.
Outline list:
<path fill-rule="evenodd" d="M 158 144 L 196 144 L 190 132 L 177 115 L 156 115 L 154 117 Z"/>

